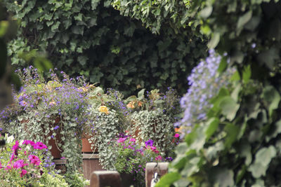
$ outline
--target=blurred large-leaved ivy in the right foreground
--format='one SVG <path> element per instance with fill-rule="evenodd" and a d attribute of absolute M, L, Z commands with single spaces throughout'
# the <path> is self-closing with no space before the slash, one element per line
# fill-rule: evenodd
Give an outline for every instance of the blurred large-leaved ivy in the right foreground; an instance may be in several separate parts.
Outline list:
<path fill-rule="evenodd" d="M 189 11 L 188 25 L 227 52 L 237 74 L 157 186 L 280 186 L 280 1 L 192 1 Z"/>

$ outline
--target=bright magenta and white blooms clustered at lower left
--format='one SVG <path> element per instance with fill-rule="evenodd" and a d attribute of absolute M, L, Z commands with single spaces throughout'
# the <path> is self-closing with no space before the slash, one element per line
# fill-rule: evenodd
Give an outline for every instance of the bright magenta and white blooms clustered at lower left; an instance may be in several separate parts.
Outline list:
<path fill-rule="evenodd" d="M 44 172 L 55 176 L 53 167 L 44 166 L 45 144 L 30 140 L 14 141 L 12 136 L 7 135 L 5 139 L 8 144 L 6 151 L 0 152 L 0 182 L 9 181 L 10 185 L 22 186 L 40 183 Z"/>

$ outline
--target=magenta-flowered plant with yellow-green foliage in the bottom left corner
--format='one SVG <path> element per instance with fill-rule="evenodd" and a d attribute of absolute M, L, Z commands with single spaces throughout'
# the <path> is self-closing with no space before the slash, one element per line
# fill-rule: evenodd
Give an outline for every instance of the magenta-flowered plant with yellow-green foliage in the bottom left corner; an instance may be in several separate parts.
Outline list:
<path fill-rule="evenodd" d="M 40 141 L 14 141 L 0 151 L 1 186 L 68 186 L 63 176 L 53 169 L 47 159 L 47 146 Z"/>

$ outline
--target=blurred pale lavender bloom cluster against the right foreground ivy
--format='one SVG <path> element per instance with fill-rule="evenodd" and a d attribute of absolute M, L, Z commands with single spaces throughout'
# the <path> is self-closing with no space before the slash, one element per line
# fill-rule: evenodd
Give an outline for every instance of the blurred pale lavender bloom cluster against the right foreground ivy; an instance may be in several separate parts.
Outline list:
<path fill-rule="evenodd" d="M 228 68 L 218 76 L 221 59 L 221 55 L 217 55 L 214 50 L 209 50 L 209 57 L 192 69 L 192 73 L 188 76 L 190 88 L 180 101 L 184 115 L 178 123 L 175 123 L 176 127 L 182 127 L 183 135 L 190 133 L 195 123 L 206 120 L 207 111 L 212 107 L 210 99 L 216 96 L 221 88 L 230 84 L 229 80 L 235 73 L 235 68 Z"/>

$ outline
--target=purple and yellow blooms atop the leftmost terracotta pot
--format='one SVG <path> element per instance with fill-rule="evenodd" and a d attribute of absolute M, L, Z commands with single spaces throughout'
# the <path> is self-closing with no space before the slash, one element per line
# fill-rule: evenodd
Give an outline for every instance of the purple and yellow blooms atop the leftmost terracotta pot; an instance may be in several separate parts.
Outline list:
<path fill-rule="evenodd" d="M 12 119 L 11 115 L 18 116 L 22 112 L 37 111 L 38 115 L 50 118 L 48 111 L 56 111 L 59 116 L 79 116 L 89 107 L 88 95 L 85 93 L 86 83 L 82 77 L 69 78 L 63 71 L 63 81 L 50 70 L 51 81 L 46 83 L 45 78 L 37 69 L 30 66 L 27 69 L 16 70 L 22 81 L 19 93 L 14 92 L 14 106 L 7 106 L 1 111 L 0 119 Z M 17 104 L 18 103 L 18 104 Z M 22 107 L 20 109 L 20 107 Z M 12 112 L 13 111 L 13 112 Z M 10 121 L 11 122 L 11 121 Z M 84 123 L 76 118 L 77 123 Z M 58 127 L 55 127 L 57 129 Z"/>

